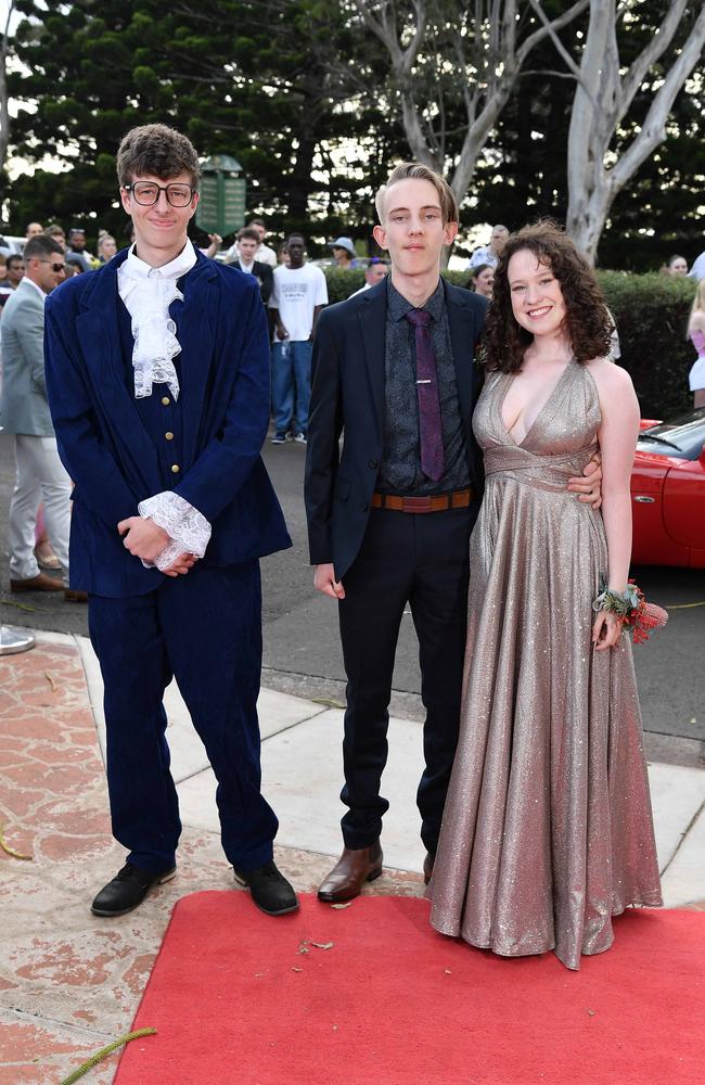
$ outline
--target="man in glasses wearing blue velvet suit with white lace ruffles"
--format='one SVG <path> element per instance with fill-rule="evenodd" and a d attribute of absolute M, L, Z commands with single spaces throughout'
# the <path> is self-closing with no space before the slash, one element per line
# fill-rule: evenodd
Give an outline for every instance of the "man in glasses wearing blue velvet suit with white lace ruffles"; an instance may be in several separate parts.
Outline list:
<path fill-rule="evenodd" d="M 259 452 L 269 343 L 252 276 L 187 237 L 198 161 L 164 125 L 117 157 L 136 244 L 47 308 L 47 387 L 75 483 L 72 587 L 89 592 L 105 687 L 113 833 L 126 866 L 92 910 L 116 916 L 174 876 L 181 831 L 163 694 L 175 676 L 218 779 L 222 845 L 270 915 L 297 907 L 260 793 L 258 559 L 291 545 Z"/>

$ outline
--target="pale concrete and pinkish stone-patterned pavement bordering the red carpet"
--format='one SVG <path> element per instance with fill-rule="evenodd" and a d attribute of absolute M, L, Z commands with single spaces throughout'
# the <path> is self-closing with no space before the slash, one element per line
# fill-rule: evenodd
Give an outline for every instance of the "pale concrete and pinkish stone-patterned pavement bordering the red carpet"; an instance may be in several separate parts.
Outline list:
<path fill-rule="evenodd" d="M 93 893 L 124 854 L 110 835 L 101 702 L 86 638 L 38 634 L 33 651 L 0 659 L 0 820 L 8 844 L 33 855 L 0 852 L 0 1085 L 57 1085 L 126 1032 L 176 901 L 233 888 L 215 780 L 172 685 L 168 733 L 184 825 L 178 876 L 129 916 L 90 915 Z M 271 689 L 259 710 L 264 790 L 281 822 L 277 858 L 298 890 L 310 891 L 341 845 L 343 713 Z M 423 893 L 421 757 L 419 723 L 393 719 L 387 870 L 370 892 Z M 650 779 L 666 905 L 705 910 L 705 770 L 654 762 Z M 112 1056 L 87 1082 L 107 1085 L 116 1065 Z"/>

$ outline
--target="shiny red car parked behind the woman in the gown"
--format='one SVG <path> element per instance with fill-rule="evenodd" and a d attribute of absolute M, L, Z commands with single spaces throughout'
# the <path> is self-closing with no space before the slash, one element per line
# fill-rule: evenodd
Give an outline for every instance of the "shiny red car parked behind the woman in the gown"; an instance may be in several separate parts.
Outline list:
<path fill-rule="evenodd" d="M 705 569 L 705 407 L 642 421 L 631 501 L 632 564 Z"/>

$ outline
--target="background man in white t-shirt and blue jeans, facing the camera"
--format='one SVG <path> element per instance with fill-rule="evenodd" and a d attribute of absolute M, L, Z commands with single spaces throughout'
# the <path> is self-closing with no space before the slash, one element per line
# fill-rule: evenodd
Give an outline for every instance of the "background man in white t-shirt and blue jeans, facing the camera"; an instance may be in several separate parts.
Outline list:
<path fill-rule="evenodd" d="M 325 276 L 304 258 L 306 239 L 286 239 L 289 267 L 274 269 L 269 308 L 274 319 L 272 347 L 272 444 L 283 445 L 292 433 L 306 443 L 308 403 L 311 397 L 311 344 L 318 315 L 328 305 Z"/>

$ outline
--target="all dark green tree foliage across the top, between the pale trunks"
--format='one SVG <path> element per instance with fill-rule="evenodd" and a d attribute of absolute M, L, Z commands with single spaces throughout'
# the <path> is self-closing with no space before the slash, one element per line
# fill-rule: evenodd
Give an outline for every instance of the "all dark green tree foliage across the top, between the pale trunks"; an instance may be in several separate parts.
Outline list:
<path fill-rule="evenodd" d="M 431 0 L 428 0 L 431 3 Z M 464 138 L 464 94 L 452 53 L 453 7 L 437 47 L 419 62 L 414 93 L 428 102 L 434 140 L 452 163 Z M 561 0 L 543 0 L 548 17 Z M 632 5 L 620 30 L 630 63 L 653 36 L 667 0 Z M 115 153 L 136 124 L 164 120 L 204 155 L 227 152 L 244 166 L 248 209 L 275 233 L 304 229 L 313 239 L 369 239 L 373 194 L 395 161 L 409 156 L 389 56 L 362 27 L 352 0 L 17 0 L 10 90 L 21 103 L 13 152 L 38 168 L 3 195 L 8 232 L 30 219 L 80 221 L 124 239 Z M 411 5 L 397 4 L 399 20 Z M 520 37 L 535 25 L 522 4 Z M 409 24 L 411 25 L 411 24 Z M 561 30 L 578 60 L 587 16 Z M 653 77 L 657 79 L 656 69 Z M 472 90 L 472 88 L 471 88 Z M 644 118 L 648 90 L 625 122 Z M 533 50 L 499 116 L 462 208 L 461 238 L 476 222 L 521 226 L 538 215 L 565 218 L 566 143 L 575 81 L 549 39 Z M 669 138 L 618 195 L 602 235 L 603 267 L 657 268 L 671 253 L 689 260 L 703 248 L 705 97 L 702 74 L 678 95 Z M 431 138 L 431 137 L 430 137 Z M 615 148 L 618 149 L 618 133 Z M 316 251 L 313 244 L 312 250 Z M 458 251 L 458 250 L 457 250 Z M 462 247 L 460 252 L 462 252 Z"/>

